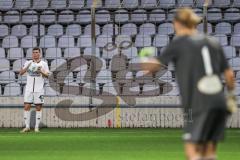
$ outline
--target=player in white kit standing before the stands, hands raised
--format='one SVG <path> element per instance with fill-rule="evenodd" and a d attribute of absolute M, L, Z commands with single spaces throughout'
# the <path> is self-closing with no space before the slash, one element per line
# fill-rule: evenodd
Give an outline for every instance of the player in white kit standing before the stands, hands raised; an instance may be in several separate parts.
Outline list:
<path fill-rule="evenodd" d="M 20 75 L 27 73 L 27 84 L 24 93 L 24 122 L 25 128 L 21 132 L 30 131 L 31 104 L 36 106 L 35 132 L 39 132 L 42 118 L 42 105 L 44 103 L 44 78 L 49 75 L 48 64 L 41 60 L 41 50 L 33 48 L 32 60 L 26 61 L 20 70 Z"/>

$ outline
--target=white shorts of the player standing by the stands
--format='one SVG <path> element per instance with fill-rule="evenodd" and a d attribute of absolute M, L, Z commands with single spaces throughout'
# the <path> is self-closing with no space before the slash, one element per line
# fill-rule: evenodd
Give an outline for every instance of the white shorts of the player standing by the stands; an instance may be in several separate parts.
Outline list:
<path fill-rule="evenodd" d="M 44 94 L 41 92 L 25 92 L 24 103 L 43 104 Z"/>

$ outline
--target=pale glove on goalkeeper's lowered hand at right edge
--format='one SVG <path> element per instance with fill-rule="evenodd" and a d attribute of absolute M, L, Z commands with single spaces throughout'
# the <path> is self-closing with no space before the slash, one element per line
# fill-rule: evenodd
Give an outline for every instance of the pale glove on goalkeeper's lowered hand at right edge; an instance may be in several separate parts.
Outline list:
<path fill-rule="evenodd" d="M 228 91 L 227 93 L 227 110 L 230 114 L 237 112 L 237 98 L 234 95 L 234 91 Z"/>

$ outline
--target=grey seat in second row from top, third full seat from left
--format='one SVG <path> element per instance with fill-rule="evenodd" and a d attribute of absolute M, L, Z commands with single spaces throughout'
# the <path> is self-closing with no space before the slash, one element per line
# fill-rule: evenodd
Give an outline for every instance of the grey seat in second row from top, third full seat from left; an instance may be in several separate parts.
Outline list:
<path fill-rule="evenodd" d="M 43 11 L 40 15 L 40 22 L 44 24 L 51 24 L 57 21 L 56 13 L 51 10 Z"/>

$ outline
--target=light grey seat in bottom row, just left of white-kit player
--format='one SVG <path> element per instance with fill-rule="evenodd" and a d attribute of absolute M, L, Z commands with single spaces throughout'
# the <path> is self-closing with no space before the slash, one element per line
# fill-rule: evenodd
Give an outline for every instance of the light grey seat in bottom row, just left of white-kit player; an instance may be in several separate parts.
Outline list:
<path fill-rule="evenodd" d="M 18 83 L 9 83 L 4 87 L 4 96 L 19 96 L 21 95 L 21 87 Z"/>

